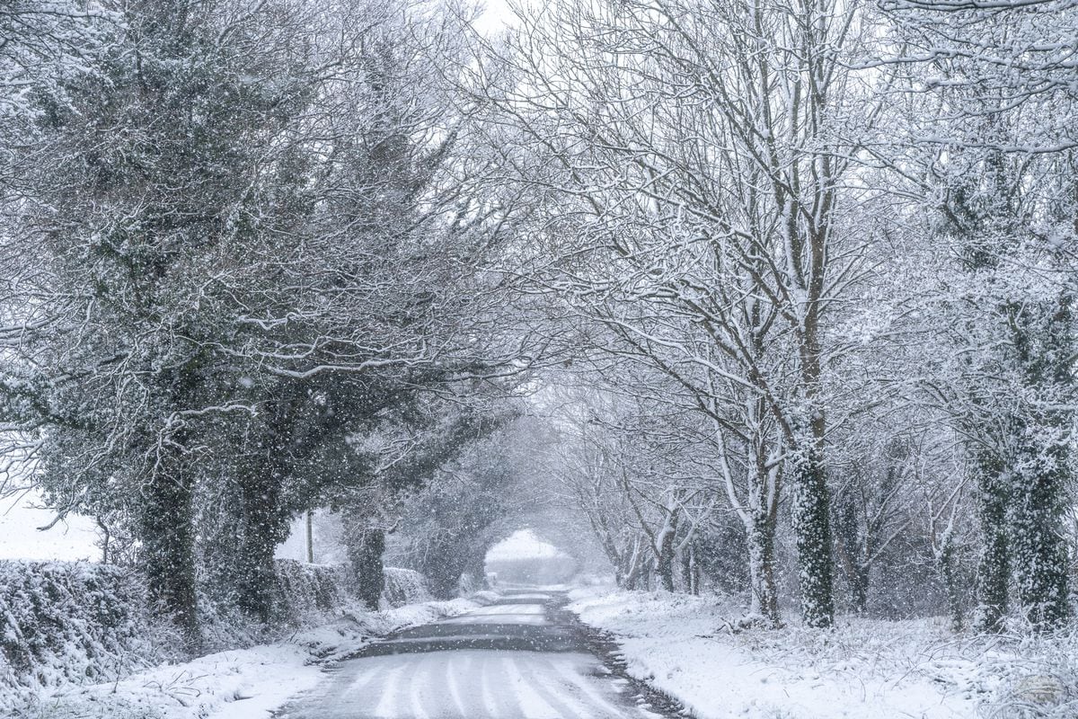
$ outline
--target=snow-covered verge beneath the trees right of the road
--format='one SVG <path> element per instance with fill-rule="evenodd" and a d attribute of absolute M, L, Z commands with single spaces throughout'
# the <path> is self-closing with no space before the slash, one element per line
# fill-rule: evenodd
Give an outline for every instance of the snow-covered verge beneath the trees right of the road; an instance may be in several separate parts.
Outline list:
<path fill-rule="evenodd" d="M 715 597 L 571 596 L 585 623 L 616 636 L 631 675 L 699 719 L 1078 717 L 1074 637 L 960 638 L 937 620 L 731 632 L 737 608 Z"/>

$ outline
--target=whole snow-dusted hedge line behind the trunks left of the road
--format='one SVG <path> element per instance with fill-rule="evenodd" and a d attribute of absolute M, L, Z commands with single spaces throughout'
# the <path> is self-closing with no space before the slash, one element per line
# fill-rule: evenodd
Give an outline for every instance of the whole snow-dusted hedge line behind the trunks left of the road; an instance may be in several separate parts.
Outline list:
<path fill-rule="evenodd" d="M 251 626 L 204 598 L 199 606 L 207 650 L 272 640 L 357 609 L 345 565 L 279 559 L 276 566 L 274 626 Z M 387 567 L 385 575 L 388 606 L 430 599 L 418 572 Z M 133 569 L 86 562 L 0 561 L 0 714 L 27 690 L 112 681 L 167 659 L 171 638 L 153 622 L 144 582 Z"/>

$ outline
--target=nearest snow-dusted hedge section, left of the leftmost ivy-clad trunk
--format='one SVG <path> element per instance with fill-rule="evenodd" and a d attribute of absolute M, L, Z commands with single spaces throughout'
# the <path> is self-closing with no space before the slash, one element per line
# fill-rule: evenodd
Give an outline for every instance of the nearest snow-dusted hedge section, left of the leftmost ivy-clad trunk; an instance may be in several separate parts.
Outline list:
<path fill-rule="evenodd" d="M 164 640 L 137 575 L 84 562 L 0 562 L 0 695 L 115 677 Z"/>

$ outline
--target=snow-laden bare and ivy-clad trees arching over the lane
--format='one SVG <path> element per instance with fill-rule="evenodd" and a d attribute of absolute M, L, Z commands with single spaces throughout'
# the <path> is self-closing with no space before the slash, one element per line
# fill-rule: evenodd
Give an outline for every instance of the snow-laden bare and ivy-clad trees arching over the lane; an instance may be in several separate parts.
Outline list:
<path fill-rule="evenodd" d="M 372 606 L 535 526 L 747 624 L 1063 625 L 1078 11 L 786 4 L 9 2 L 5 488 L 195 649 L 314 509 Z"/>

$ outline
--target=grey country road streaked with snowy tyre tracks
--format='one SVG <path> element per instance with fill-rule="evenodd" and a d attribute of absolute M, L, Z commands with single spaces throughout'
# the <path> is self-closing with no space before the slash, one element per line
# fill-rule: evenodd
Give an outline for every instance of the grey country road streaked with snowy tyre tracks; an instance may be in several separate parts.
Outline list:
<path fill-rule="evenodd" d="M 589 651 L 556 592 L 400 632 L 342 662 L 281 719 L 657 719 Z"/>

